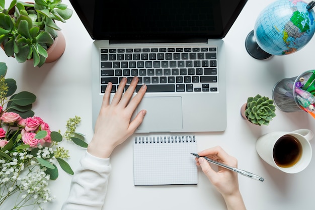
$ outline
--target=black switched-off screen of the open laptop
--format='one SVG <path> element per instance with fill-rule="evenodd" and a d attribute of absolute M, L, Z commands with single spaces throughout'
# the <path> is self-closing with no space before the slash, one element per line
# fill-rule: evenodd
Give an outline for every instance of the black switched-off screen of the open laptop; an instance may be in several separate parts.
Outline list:
<path fill-rule="evenodd" d="M 223 38 L 247 0 L 70 0 L 94 40 Z"/>

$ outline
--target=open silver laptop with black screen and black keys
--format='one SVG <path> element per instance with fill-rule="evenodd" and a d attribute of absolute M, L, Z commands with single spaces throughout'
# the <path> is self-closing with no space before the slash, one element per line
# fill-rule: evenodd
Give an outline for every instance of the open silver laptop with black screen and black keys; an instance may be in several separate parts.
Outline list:
<path fill-rule="evenodd" d="M 109 81 L 147 91 L 136 133 L 226 129 L 225 37 L 247 0 L 70 0 L 94 41 L 93 126 Z M 128 87 L 128 85 L 127 85 Z M 127 88 L 126 87 L 126 88 Z"/>

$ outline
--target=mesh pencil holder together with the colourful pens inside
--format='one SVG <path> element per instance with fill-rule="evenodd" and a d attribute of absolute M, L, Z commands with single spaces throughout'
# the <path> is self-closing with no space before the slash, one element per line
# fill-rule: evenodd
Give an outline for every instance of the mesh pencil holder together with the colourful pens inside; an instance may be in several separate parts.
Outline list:
<path fill-rule="evenodd" d="M 276 107 L 282 112 L 305 111 L 311 114 L 312 101 L 307 99 L 313 95 L 304 89 L 314 86 L 314 79 L 315 71 L 309 70 L 277 82 L 272 89 L 272 99 Z"/>

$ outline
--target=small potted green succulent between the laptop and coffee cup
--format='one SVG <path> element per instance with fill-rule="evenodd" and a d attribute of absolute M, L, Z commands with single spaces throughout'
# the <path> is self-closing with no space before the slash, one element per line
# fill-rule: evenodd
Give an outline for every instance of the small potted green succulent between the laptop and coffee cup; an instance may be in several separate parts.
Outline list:
<path fill-rule="evenodd" d="M 245 120 L 256 125 L 269 125 L 269 122 L 276 116 L 276 107 L 269 97 L 257 94 L 255 97 L 248 97 L 247 102 L 241 108 L 241 115 Z"/>

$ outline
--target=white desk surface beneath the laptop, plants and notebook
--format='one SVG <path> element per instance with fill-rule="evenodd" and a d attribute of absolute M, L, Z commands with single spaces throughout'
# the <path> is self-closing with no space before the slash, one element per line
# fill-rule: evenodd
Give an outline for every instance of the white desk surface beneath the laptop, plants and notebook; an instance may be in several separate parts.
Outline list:
<path fill-rule="evenodd" d="M 9 1 L 8 1 L 9 2 Z M 198 150 L 220 145 L 239 160 L 239 168 L 265 178 L 259 182 L 239 176 L 240 189 L 248 209 L 313 209 L 315 188 L 315 160 L 298 174 L 285 174 L 263 162 L 255 149 L 257 138 L 272 131 L 310 129 L 315 132 L 315 119 L 304 112 L 276 111 L 269 126 L 255 126 L 243 120 L 240 108 L 247 97 L 257 93 L 271 98 L 276 82 L 314 69 L 313 38 L 302 50 L 286 56 L 273 56 L 256 60 L 245 49 L 245 38 L 253 29 L 255 20 L 272 0 L 249 0 L 241 15 L 224 38 L 227 74 L 227 128 L 224 132 L 196 133 Z M 69 4 L 68 0 L 63 3 Z M 72 9 L 72 6 L 69 5 Z M 59 24 L 66 39 L 66 50 L 56 62 L 34 68 L 31 62 L 18 63 L 0 50 L 1 62 L 8 65 L 7 78 L 14 78 L 18 91 L 27 90 L 37 95 L 34 111 L 52 130 L 64 131 L 66 120 L 75 115 L 82 118 L 77 132 L 86 135 L 90 142 L 92 130 L 91 105 L 91 46 L 93 40 L 76 13 L 65 24 Z M 216 120 L 216 119 L 210 119 Z M 198 185 L 134 186 L 133 148 L 129 138 L 112 154 L 112 174 L 104 209 L 226 209 L 224 200 L 199 169 Z M 314 148 L 315 140 L 311 141 Z M 71 143 L 69 164 L 79 166 L 84 155 Z M 45 209 L 60 209 L 68 196 L 71 176 L 61 169 L 59 178 L 50 188 L 56 199 Z M 104 195 L 100 195 L 104 196 Z"/>

